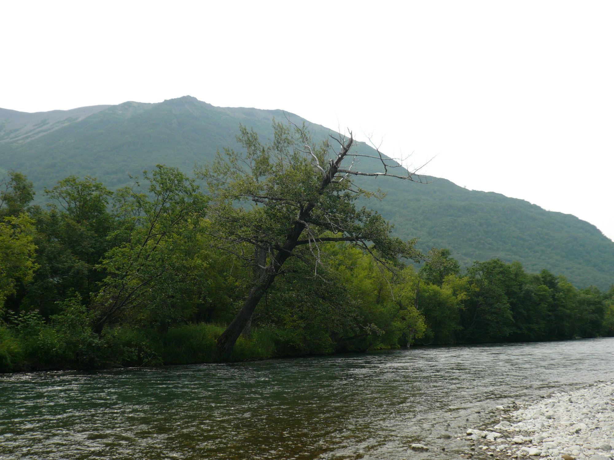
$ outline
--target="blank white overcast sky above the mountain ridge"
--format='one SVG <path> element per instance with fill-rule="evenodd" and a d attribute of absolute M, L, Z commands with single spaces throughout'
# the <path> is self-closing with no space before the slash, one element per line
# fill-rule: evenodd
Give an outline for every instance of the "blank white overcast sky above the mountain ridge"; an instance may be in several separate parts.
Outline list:
<path fill-rule="evenodd" d="M 15 1 L 0 107 L 190 94 L 383 139 L 614 238 L 612 1 Z"/>

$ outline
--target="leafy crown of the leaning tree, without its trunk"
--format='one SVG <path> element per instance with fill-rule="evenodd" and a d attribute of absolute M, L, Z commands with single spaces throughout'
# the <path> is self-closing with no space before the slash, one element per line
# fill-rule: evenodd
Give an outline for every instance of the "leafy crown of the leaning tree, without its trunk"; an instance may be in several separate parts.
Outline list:
<path fill-rule="evenodd" d="M 209 217 L 216 223 L 211 236 L 235 245 L 251 243 L 272 254 L 300 223 L 304 229 L 291 250 L 303 260 L 317 260 L 314 247 L 326 240 L 370 241 L 389 259 L 419 255 L 413 240 L 391 236 L 391 225 L 378 213 L 356 208 L 357 199 L 375 193 L 354 191 L 348 177 L 325 180 L 319 165 L 332 164 L 336 156 L 328 142 L 314 143 L 305 126 L 273 121 L 273 132 L 274 139 L 262 144 L 253 129 L 241 126 L 237 141 L 242 148 L 225 148 L 198 169 L 211 199 Z M 351 160 L 348 156 L 346 162 Z"/>

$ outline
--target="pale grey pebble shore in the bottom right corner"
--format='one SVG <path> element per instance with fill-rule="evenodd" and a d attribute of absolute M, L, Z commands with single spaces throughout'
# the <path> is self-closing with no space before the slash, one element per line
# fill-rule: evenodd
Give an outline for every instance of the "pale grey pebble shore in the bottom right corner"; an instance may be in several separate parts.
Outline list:
<path fill-rule="evenodd" d="M 467 430 L 464 439 L 472 444 L 473 458 L 614 459 L 612 382 L 495 410 L 501 414 L 499 423 L 484 430 Z"/>

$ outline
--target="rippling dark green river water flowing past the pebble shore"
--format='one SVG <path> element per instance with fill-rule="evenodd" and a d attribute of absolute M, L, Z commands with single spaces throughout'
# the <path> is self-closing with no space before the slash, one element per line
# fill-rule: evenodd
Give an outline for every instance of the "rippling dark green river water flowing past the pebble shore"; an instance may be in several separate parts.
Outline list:
<path fill-rule="evenodd" d="M 608 338 L 0 375 L 0 459 L 456 459 L 495 405 L 614 380 L 613 357 Z"/>

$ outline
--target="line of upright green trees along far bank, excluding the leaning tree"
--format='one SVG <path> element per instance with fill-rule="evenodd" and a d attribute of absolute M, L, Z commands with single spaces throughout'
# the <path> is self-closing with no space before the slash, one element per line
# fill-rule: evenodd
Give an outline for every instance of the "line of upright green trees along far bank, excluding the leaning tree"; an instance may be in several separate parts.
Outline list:
<path fill-rule="evenodd" d="M 215 341 L 258 274 L 237 256 L 253 245 L 214 240 L 194 180 L 158 166 L 115 192 L 71 176 L 45 194 L 31 205 L 24 175 L 2 182 L 0 370 L 220 359 Z M 499 259 L 461 272 L 445 249 L 419 270 L 348 242 L 316 250 L 315 269 L 286 263 L 224 359 L 614 334 L 614 287 Z"/>

